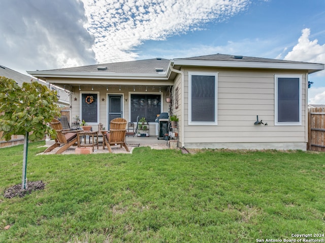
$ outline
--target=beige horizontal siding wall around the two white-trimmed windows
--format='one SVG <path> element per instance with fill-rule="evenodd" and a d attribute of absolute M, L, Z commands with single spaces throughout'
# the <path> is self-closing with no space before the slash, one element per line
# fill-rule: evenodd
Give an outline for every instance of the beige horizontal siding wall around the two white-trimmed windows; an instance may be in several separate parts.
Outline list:
<path fill-rule="evenodd" d="M 188 125 L 188 71 L 218 72 L 218 125 Z M 185 69 L 184 137 L 190 143 L 306 142 L 305 73 L 279 70 L 198 68 Z M 303 74 L 302 126 L 274 126 L 274 75 Z M 254 125 L 256 115 L 265 125 Z"/>

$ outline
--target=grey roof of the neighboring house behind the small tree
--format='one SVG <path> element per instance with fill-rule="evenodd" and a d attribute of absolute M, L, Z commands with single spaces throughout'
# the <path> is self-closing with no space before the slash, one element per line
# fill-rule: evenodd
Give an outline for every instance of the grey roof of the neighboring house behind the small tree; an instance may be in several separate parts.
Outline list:
<path fill-rule="evenodd" d="M 23 83 L 30 83 L 31 80 L 34 80 L 42 85 L 46 85 L 46 83 L 44 81 L 27 76 L 25 74 L 22 74 L 20 72 L 12 70 L 12 69 L 5 67 L 3 65 L 0 65 L 0 76 L 14 79 L 16 81 L 16 83 L 18 83 L 19 86 L 22 86 Z M 56 90 L 58 91 L 59 89 L 57 88 Z M 60 90 L 60 92 L 58 92 L 58 95 L 60 96 L 59 101 L 58 101 L 59 104 L 62 104 L 62 105 L 70 104 L 69 93 L 66 93 L 63 90 Z"/>

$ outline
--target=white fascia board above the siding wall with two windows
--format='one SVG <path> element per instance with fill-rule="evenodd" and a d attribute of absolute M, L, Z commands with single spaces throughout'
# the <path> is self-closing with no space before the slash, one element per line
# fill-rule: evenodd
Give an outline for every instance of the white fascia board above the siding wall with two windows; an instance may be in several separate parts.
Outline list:
<path fill-rule="evenodd" d="M 239 68 L 272 68 L 272 69 L 300 69 L 309 73 L 324 69 L 324 64 L 318 63 L 279 63 L 279 62 L 243 62 L 243 61 L 212 61 L 174 59 L 172 65 L 206 66 L 206 67 L 239 67 Z"/>

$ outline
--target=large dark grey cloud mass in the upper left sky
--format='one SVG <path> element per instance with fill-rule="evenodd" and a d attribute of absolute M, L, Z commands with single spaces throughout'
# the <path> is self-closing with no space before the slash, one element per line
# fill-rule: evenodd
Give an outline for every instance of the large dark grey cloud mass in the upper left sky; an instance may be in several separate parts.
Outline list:
<path fill-rule="evenodd" d="M 0 63 L 22 73 L 93 64 L 86 21 L 79 0 L 2 1 Z"/>

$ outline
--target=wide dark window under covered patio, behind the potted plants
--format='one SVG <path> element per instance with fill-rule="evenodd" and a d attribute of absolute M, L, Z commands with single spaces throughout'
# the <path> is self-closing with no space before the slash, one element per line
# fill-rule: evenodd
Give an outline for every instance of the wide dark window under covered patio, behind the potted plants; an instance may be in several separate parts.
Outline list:
<path fill-rule="evenodd" d="M 159 94 L 131 94 L 131 121 L 145 117 L 154 122 L 157 114 L 161 113 L 161 93 Z"/>

